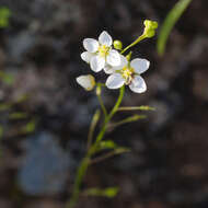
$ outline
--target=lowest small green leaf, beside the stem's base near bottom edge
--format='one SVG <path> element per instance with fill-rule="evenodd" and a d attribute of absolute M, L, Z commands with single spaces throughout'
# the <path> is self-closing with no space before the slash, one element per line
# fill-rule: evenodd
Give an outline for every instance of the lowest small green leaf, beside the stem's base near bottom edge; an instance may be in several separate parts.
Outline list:
<path fill-rule="evenodd" d="M 86 196 L 102 196 L 107 198 L 113 198 L 117 195 L 118 187 L 108 187 L 108 188 L 89 188 L 84 192 Z"/>

